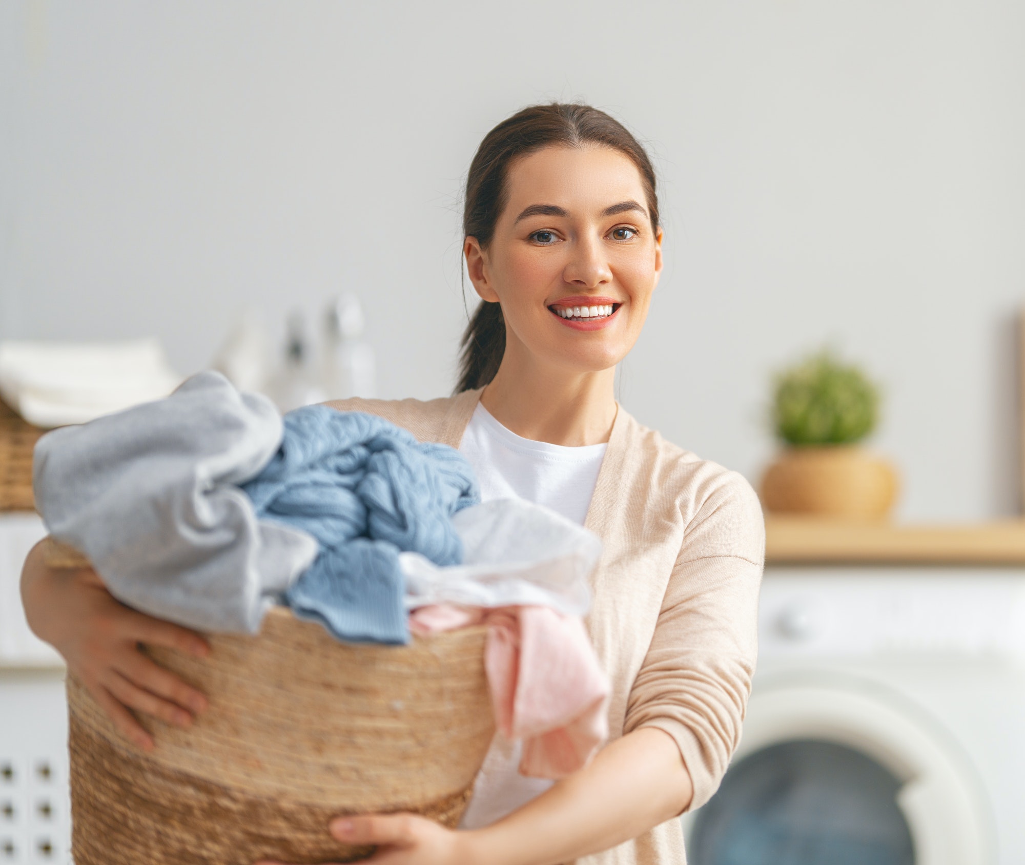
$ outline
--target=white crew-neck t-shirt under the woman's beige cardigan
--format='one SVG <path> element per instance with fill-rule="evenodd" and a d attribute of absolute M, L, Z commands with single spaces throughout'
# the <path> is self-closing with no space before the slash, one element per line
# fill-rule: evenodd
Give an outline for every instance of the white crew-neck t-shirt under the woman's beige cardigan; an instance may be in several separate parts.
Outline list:
<path fill-rule="evenodd" d="M 567 448 L 534 442 L 502 426 L 480 403 L 459 445 L 477 473 L 481 498 L 522 498 L 583 525 L 605 457 L 603 445 Z M 517 771 L 520 746 L 500 737 L 488 751 L 460 826 L 477 829 L 501 820 L 547 790 L 552 782 Z"/>

